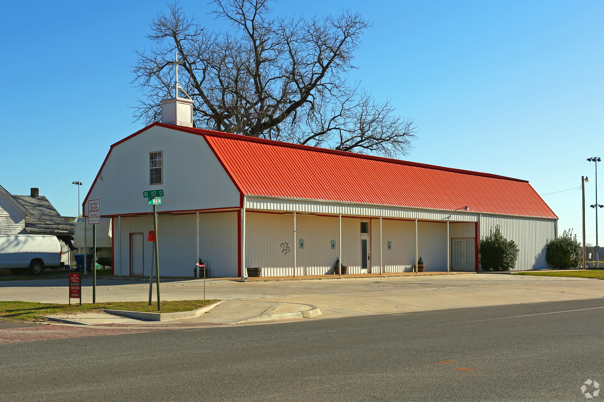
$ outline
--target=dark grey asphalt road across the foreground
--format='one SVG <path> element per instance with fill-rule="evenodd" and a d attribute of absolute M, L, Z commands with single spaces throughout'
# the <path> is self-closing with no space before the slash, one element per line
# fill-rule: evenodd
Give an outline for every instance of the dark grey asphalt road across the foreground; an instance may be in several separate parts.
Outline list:
<path fill-rule="evenodd" d="M 597 298 L 4 344 L 0 400 L 580 401 L 604 388 L 603 315 Z"/>

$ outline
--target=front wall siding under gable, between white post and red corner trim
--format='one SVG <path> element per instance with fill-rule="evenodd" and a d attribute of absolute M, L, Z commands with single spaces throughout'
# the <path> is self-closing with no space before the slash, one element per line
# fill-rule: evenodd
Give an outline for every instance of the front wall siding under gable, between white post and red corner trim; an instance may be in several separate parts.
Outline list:
<path fill-rule="evenodd" d="M 193 219 L 194 231 L 195 215 L 187 216 L 193 217 L 191 219 Z M 238 212 L 199 214 L 199 256 L 210 269 L 213 277 L 237 276 L 238 220 Z M 193 253 L 196 253 L 195 244 L 193 244 Z"/>

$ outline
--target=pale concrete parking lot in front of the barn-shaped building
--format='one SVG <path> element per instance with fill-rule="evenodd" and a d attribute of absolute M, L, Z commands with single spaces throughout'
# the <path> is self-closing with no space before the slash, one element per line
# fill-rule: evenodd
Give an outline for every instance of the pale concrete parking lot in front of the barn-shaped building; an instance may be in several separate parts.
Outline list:
<path fill-rule="evenodd" d="M 84 285 L 83 301 L 90 303 L 91 281 L 85 280 Z M 201 299 L 203 287 L 202 280 L 165 281 L 161 284 L 161 298 Z M 223 310 L 229 306 L 249 309 L 253 302 L 302 303 L 318 306 L 322 318 L 604 297 L 602 280 L 500 274 L 267 282 L 208 280 L 205 287 L 206 298 L 237 301 L 226 303 Z M 148 294 L 149 284 L 142 281 L 97 281 L 97 301 L 146 300 Z M 66 303 L 66 280 L 2 282 L 0 300 Z M 250 303 L 239 303 L 240 300 Z"/>

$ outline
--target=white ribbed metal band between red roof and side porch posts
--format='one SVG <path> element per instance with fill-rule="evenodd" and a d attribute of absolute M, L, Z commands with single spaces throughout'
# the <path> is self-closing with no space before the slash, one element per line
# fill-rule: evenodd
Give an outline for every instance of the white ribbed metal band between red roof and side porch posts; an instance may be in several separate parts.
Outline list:
<path fill-rule="evenodd" d="M 274 211 L 296 211 L 311 213 L 329 213 L 359 216 L 384 216 L 387 218 L 436 219 L 441 220 L 449 215 L 454 221 L 475 222 L 475 213 L 438 212 L 431 210 L 409 209 L 404 207 L 380 207 L 365 204 L 330 203 L 329 201 L 304 201 L 279 198 L 246 197 L 246 208 Z"/>

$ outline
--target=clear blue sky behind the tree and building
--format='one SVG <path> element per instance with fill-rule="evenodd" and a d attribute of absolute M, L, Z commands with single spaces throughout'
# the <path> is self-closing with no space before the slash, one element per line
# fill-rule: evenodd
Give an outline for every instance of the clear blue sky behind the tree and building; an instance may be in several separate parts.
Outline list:
<path fill-rule="evenodd" d="M 181 1 L 225 30 L 206 1 Z M 373 23 L 351 80 L 390 98 L 420 128 L 407 160 L 530 181 L 580 237 L 580 177 L 594 203 L 604 157 L 604 3 L 599 1 L 280 1 L 276 14 L 335 14 Z M 89 185 L 109 145 L 139 130 L 130 105 L 133 49 L 165 1 L 2 2 L 0 184 L 39 187 L 63 215 L 77 212 L 74 180 Z M 602 167 L 604 173 L 604 165 Z M 604 180 L 604 177 L 603 177 Z M 604 186 L 604 181 L 600 187 Z M 604 204 L 604 195 L 600 198 Z M 604 209 L 602 218 L 604 219 Z M 587 242 L 595 243 L 588 208 Z"/>

